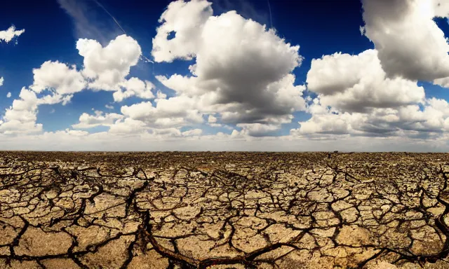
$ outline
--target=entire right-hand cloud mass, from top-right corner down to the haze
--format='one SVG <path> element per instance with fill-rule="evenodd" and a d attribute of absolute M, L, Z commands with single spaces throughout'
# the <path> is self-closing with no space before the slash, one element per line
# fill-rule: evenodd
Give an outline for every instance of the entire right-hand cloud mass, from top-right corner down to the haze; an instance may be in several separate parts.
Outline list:
<path fill-rule="evenodd" d="M 358 55 L 335 53 L 311 62 L 309 120 L 302 137 L 443 137 L 448 102 L 426 98 L 417 81 L 447 83 L 449 45 L 433 18 L 448 5 L 431 0 L 363 0 L 361 28 L 375 45 Z M 411 31 L 411 32 L 410 32 Z M 442 78 L 442 79 L 441 79 Z"/>

